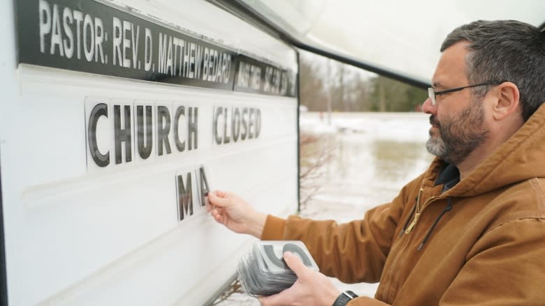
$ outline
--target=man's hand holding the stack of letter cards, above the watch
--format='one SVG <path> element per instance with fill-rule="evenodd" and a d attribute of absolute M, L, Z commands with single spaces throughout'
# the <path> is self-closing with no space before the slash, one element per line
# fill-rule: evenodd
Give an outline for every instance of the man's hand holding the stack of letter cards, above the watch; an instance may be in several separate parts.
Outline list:
<path fill-rule="evenodd" d="M 297 281 L 289 289 L 274 296 L 261 298 L 263 306 L 273 305 L 316 305 L 330 306 L 341 291 L 326 277 L 314 271 L 291 252 L 284 253 L 284 261 L 297 275 Z"/>

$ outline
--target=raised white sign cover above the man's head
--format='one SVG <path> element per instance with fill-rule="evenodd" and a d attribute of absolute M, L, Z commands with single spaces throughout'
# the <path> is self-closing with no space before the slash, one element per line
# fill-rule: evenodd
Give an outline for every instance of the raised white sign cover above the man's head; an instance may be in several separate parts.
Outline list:
<path fill-rule="evenodd" d="M 457 26 L 475 20 L 545 22 L 545 1 L 535 0 L 238 3 L 303 49 L 421 86 L 433 75 L 442 40 Z"/>

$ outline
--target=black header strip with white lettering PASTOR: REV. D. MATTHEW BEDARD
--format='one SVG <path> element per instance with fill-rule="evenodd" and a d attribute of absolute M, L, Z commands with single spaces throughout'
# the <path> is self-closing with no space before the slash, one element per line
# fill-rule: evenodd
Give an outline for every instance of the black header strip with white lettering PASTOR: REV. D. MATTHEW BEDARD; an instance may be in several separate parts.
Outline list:
<path fill-rule="evenodd" d="M 15 6 L 19 63 L 152 82 L 295 96 L 295 77 L 289 70 L 103 3 L 18 0 Z M 238 68 L 240 65 L 243 67 Z M 262 70 L 259 75 L 255 72 L 258 68 Z M 241 72 L 244 75 L 239 76 Z M 235 79 L 241 80 L 238 85 Z M 260 84 L 259 89 L 256 84 Z"/>

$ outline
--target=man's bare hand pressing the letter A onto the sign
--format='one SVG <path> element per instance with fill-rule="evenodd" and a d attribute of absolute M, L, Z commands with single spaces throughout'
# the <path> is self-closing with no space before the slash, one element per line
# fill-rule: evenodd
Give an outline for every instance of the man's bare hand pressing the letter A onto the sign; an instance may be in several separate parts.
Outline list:
<path fill-rule="evenodd" d="M 240 234 L 261 238 L 267 215 L 259 213 L 243 199 L 230 192 L 208 192 L 206 210 L 228 229 Z"/>

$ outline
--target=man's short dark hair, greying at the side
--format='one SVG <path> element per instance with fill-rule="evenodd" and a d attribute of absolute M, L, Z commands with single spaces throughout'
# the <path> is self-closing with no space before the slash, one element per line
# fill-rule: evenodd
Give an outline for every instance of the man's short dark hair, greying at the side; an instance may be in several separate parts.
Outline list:
<path fill-rule="evenodd" d="M 545 102 L 545 33 L 514 20 L 479 20 L 446 36 L 441 52 L 460 40 L 470 42 L 466 75 L 470 84 L 509 81 L 521 93 L 523 119 Z M 483 97 L 488 86 L 474 89 Z"/>

